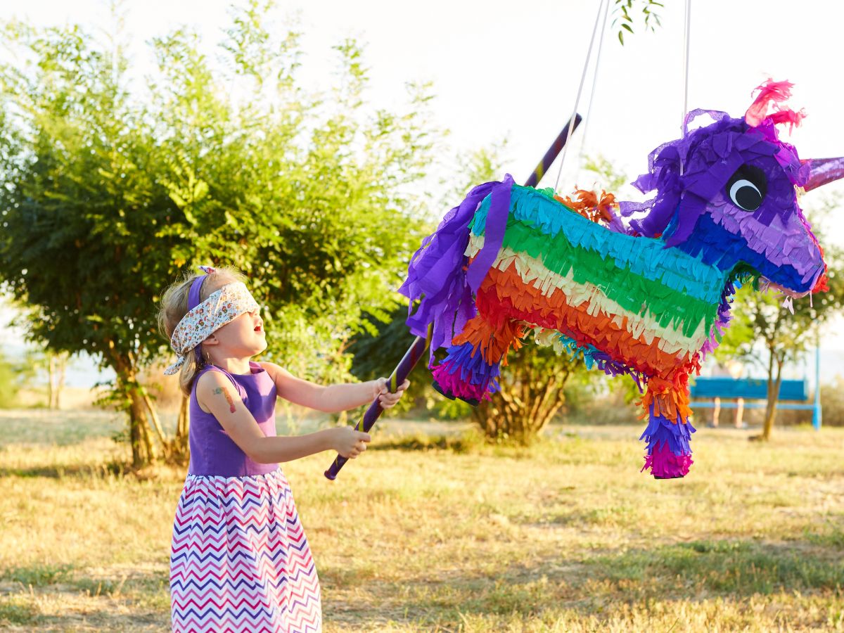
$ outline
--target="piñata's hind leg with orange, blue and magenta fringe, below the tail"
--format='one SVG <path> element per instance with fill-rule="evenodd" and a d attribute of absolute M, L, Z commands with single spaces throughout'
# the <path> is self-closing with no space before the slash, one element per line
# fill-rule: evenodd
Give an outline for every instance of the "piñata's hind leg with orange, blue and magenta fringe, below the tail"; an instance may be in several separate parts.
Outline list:
<path fill-rule="evenodd" d="M 520 322 L 507 321 L 495 328 L 484 317 L 470 319 L 463 332 L 452 339 L 446 358 L 431 368 L 434 388 L 446 398 L 460 398 L 477 406 L 499 390 L 498 376 L 510 346 L 519 347 L 524 335 Z"/>

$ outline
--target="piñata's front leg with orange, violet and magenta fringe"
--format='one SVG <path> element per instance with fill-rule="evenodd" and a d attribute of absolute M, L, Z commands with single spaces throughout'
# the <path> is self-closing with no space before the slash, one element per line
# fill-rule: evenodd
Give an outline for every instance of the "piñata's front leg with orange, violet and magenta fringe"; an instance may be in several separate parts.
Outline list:
<path fill-rule="evenodd" d="M 671 389 L 642 399 L 647 409 L 648 425 L 640 440 L 647 441 L 647 456 L 642 470 L 649 469 L 654 479 L 675 479 L 689 473 L 691 434 L 689 392 Z"/>

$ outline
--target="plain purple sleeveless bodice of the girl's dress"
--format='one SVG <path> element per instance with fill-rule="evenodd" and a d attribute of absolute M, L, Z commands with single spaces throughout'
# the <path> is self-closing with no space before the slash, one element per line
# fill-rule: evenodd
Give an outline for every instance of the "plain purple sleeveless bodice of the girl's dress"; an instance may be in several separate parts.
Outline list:
<path fill-rule="evenodd" d="M 249 361 L 250 373 L 230 374 L 217 365 L 205 365 L 197 373 L 191 389 L 188 441 L 191 446 L 191 463 L 187 473 L 192 475 L 217 475 L 219 477 L 249 477 L 272 473 L 277 463 L 257 463 L 235 444 L 219 424 L 214 414 L 207 414 L 197 402 L 197 382 L 206 371 L 219 371 L 228 376 L 243 403 L 255 416 L 265 436 L 275 436 L 276 389 L 273 378 L 261 365 Z"/>

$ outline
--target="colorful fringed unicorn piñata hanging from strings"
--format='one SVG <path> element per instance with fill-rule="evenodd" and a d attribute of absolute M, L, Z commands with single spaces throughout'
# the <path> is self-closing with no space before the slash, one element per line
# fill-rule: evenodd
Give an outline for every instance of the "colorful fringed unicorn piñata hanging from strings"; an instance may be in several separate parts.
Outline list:
<path fill-rule="evenodd" d="M 823 251 L 796 187 L 841 177 L 842 162 L 801 161 L 779 139 L 776 124 L 803 116 L 778 105 L 790 87 L 760 86 L 741 119 L 691 112 L 688 120 L 714 122 L 655 149 L 635 185 L 656 196 L 621 203 L 620 214 L 612 197 L 579 192 L 573 202 L 510 176 L 475 187 L 425 238 L 401 289 L 411 305 L 421 299 L 411 331 L 434 324 L 441 392 L 488 399 L 507 350 L 533 330 L 539 343 L 632 376 L 649 419 L 642 469 L 659 479 L 688 473 L 689 376 L 720 342 L 738 284 L 788 300 L 825 289 Z M 440 347 L 446 358 L 433 366 Z"/>

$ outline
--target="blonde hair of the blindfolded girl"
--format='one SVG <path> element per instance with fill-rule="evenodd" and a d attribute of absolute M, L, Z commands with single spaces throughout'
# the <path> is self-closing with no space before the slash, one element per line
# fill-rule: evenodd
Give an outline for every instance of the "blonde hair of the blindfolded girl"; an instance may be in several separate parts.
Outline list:
<path fill-rule="evenodd" d="M 200 275 L 186 273 L 181 279 L 171 284 L 161 295 L 161 307 L 158 313 L 159 332 L 168 342 L 170 342 L 170 337 L 173 336 L 173 330 L 176 329 L 182 317 L 187 314 L 187 295 L 190 293 L 191 284 L 197 277 L 200 277 Z M 208 299 L 208 296 L 215 290 L 235 281 L 246 283 L 246 275 L 237 268 L 230 266 L 216 268 L 214 273 L 208 273 L 208 279 L 203 282 L 199 300 Z M 197 371 L 203 368 L 205 362 L 207 361 L 204 358 L 203 362 L 197 362 L 197 355 L 193 351 L 187 354 L 185 363 L 181 365 L 181 372 L 179 373 L 179 387 L 186 396 L 191 395 L 193 380 L 197 376 Z"/>

